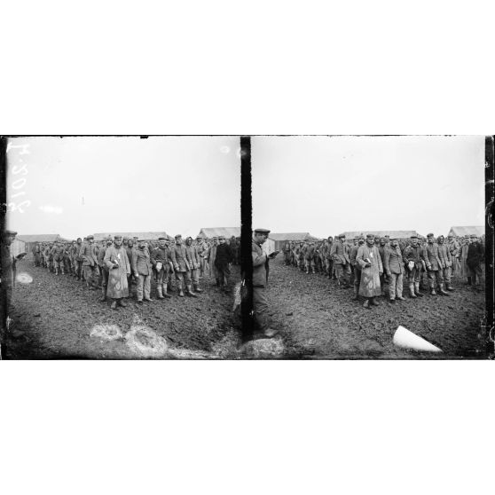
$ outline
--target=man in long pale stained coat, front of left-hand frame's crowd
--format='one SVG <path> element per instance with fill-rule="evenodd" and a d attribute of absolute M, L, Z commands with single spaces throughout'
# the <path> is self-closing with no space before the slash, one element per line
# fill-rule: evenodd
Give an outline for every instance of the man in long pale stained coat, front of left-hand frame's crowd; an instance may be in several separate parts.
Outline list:
<path fill-rule="evenodd" d="M 129 297 L 129 287 L 127 277 L 130 274 L 130 263 L 125 249 L 122 247 L 122 235 L 114 236 L 114 245 L 106 248 L 103 261 L 108 268 L 108 286 L 106 296 L 114 299 L 110 306 L 117 310 L 119 306 L 125 308 L 126 303 L 122 301 L 124 297 Z"/>

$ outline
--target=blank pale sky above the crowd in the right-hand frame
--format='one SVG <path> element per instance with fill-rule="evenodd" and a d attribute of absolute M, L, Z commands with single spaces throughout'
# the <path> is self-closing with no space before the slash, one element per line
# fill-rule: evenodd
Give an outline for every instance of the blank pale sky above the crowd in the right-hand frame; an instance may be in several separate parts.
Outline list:
<path fill-rule="evenodd" d="M 310 232 L 484 225 L 484 137 L 252 138 L 253 228 Z"/>

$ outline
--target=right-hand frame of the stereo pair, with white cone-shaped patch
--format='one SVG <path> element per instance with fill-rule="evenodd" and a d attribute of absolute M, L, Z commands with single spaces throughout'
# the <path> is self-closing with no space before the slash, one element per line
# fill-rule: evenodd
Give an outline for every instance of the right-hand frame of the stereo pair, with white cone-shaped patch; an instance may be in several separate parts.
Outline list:
<path fill-rule="evenodd" d="M 493 138 L 255 136 L 250 146 L 253 313 L 273 349 L 492 355 Z"/>

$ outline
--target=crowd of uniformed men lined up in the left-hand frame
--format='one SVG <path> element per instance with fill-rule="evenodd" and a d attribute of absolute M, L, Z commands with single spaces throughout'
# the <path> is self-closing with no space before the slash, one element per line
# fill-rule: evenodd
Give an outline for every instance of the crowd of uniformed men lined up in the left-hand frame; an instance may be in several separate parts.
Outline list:
<path fill-rule="evenodd" d="M 83 240 L 36 243 L 33 247 L 35 266 L 59 274 L 70 274 L 86 282 L 90 290 L 101 287 L 101 302 L 113 299 L 112 309 L 126 306 L 132 281 L 136 284 L 138 303 L 152 302 L 151 278 L 156 281 L 159 299 L 170 297 L 169 287 L 175 279 L 180 297 L 197 297 L 202 292 L 200 279 L 205 273 L 215 277 L 216 286 L 229 290 L 230 264 L 239 263 L 240 239 L 223 236 L 212 240 L 181 235 L 175 242 L 164 237 L 147 242 L 120 235 L 95 243 L 90 235 Z"/>

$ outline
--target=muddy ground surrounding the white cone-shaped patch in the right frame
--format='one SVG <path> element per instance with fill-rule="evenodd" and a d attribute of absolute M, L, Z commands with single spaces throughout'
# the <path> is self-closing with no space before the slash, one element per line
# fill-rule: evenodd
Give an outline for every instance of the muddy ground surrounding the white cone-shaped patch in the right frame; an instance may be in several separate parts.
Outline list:
<path fill-rule="evenodd" d="M 341 289 L 320 274 L 306 275 L 271 262 L 269 300 L 273 326 L 284 335 L 288 355 L 312 358 L 481 358 L 478 338 L 484 315 L 484 288 L 455 280 L 451 296 L 425 295 L 391 305 L 380 297 L 380 306 L 366 310 L 351 301 L 352 289 Z M 407 289 L 407 287 L 405 287 Z M 442 354 L 398 349 L 392 337 L 405 326 Z"/>

